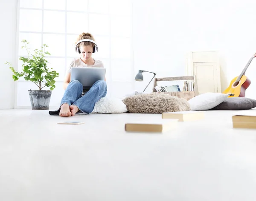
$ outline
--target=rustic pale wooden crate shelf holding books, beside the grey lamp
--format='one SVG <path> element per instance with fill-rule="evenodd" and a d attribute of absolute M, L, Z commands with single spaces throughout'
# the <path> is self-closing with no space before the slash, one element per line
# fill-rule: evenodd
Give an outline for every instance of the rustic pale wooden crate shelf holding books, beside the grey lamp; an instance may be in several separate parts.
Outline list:
<path fill-rule="evenodd" d="M 194 88 L 193 91 L 173 91 L 173 92 L 157 92 L 155 89 L 155 86 L 157 86 L 157 82 L 162 82 L 162 81 L 180 81 L 180 80 L 193 80 L 194 81 Z M 154 86 L 152 93 L 166 93 L 171 96 L 177 96 L 179 98 L 183 98 L 186 100 L 192 99 L 193 97 L 198 95 L 198 86 L 196 82 L 196 77 L 195 76 L 180 76 L 180 77 L 162 77 L 162 78 L 155 78 L 154 79 Z"/>

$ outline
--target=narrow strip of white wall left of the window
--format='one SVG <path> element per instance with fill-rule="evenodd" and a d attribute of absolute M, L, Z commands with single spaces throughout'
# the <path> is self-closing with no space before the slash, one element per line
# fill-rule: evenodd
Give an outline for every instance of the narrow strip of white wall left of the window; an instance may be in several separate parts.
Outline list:
<path fill-rule="evenodd" d="M 12 71 L 6 61 L 15 64 L 17 0 L 0 0 L 0 109 L 14 108 Z"/>

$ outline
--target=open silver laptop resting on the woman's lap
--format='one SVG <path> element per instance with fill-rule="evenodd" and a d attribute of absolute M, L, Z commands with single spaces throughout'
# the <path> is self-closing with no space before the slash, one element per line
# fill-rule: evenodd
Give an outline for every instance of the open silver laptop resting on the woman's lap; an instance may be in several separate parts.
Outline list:
<path fill-rule="evenodd" d="M 70 81 L 76 79 L 84 88 L 90 88 L 96 81 L 105 80 L 106 68 L 73 67 L 71 68 Z"/>

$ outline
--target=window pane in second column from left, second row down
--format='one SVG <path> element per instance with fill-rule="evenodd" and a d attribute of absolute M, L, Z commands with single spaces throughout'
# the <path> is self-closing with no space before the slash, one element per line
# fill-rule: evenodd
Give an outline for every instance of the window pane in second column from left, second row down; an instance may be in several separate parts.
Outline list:
<path fill-rule="evenodd" d="M 44 11 L 44 32 L 65 33 L 65 12 Z"/>

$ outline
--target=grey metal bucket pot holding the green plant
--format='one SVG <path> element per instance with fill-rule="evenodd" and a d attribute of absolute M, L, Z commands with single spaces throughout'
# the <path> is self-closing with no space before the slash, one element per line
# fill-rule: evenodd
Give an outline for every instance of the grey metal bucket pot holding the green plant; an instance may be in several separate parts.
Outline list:
<path fill-rule="evenodd" d="M 29 90 L 29 98 L 32 110 L 49 110 L 52 91 Z"/>

